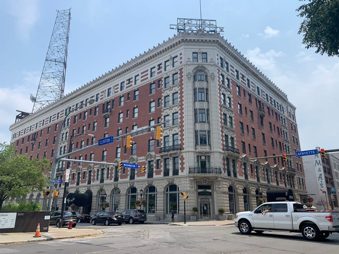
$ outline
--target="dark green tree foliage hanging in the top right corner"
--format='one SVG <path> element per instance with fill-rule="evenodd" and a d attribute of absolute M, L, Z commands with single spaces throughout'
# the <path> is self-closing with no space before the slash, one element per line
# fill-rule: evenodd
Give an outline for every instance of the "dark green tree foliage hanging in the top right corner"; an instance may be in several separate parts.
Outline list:
<path fill-rule="evenodd" d="M 339 1 L 299 0 L 309 3 L 301 5 L 298 16 L 305 18 L 298 34 L 303 34 L 305 48 L 316 48 L 321 55 L 339 56 Z"/>

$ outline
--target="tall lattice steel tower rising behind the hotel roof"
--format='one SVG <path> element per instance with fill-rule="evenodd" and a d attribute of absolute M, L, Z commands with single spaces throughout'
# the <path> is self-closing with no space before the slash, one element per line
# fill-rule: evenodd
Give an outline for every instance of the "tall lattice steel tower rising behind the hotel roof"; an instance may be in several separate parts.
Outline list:
<path fill-rule="evenodd" d="M 32 113 L 63 97 L 71 9 L 58 10 Z"/>

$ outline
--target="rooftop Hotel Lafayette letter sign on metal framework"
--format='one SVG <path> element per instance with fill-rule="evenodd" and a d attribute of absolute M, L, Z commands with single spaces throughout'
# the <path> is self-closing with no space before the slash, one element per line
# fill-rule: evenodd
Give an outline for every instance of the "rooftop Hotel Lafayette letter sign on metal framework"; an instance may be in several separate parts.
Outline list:
<path fill-rule="evenodd" d="M 177 25 L 169 25 L 170 29 L 177 29 L 180 31 L 197 31 L 201 29 L 208 32 L 223 32 L 223 27 L 217 27 L 216 20 L 210 19 L 181 19 L 178 18 Z"/>

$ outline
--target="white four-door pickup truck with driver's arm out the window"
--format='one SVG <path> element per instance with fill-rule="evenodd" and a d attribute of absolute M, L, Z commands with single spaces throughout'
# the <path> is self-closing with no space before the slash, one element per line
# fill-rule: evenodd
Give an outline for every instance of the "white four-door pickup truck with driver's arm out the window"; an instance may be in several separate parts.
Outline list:
<path fill-rule="evenodd" d="M 301 232 L 306 240 L 322 240 L 330 233 L 339 233 L 339 212 L 308 211 L 298 202 L 267 202 L 253 211 L 237 213 L 235 226 L 244 235 L 251 234 L 252 230 L 258 234 Z"/>

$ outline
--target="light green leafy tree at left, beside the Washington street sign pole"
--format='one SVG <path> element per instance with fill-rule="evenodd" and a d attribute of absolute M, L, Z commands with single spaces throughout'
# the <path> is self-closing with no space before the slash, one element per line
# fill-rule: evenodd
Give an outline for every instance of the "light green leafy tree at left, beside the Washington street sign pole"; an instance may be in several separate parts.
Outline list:
<path fill-rule="evenodd" d="M 45 170 L 50 170 L 47 159 L 29 160 L 15 153 L 14 147 L 0 143 L 0 210 L 8 198 L 26 196 L 32 191 L 42 191 L 46 186 Z"/>

